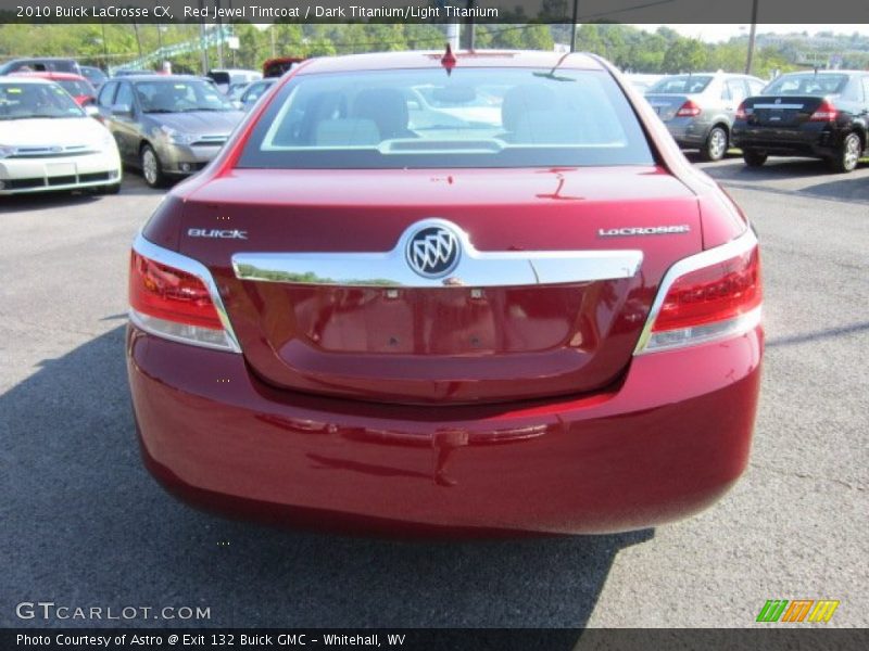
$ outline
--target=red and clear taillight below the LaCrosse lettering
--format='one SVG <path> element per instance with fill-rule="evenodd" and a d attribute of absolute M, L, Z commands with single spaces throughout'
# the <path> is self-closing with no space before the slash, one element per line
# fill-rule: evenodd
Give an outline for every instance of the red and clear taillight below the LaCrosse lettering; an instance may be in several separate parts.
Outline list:
<path fill-rule="evenodd" d="M 757 240 L 748 231 L 723 246 L 680 260 L 667 272 L 638 353 L 744 334 L 760 322 Z"/>

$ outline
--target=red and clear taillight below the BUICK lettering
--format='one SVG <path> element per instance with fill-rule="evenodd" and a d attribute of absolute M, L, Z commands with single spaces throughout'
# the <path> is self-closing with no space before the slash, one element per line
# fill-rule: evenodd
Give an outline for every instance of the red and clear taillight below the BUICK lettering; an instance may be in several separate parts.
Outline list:
<path fill-rule="evenodd" d="M 129 305 L 133 323 L 151 334 L 238 350 L 207 269 L 141 235 L 130 254 Z"/>

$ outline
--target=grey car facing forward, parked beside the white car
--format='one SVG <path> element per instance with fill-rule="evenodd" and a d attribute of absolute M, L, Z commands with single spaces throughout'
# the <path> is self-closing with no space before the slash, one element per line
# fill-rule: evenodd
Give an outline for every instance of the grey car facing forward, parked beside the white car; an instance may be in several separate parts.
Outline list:
<path fill-rule="evenodd" d="M 121 159 L 152 188 L 202 169 L 244 116 L 213 84 L 180 75 L 111 79 L 97 103 Z"/>

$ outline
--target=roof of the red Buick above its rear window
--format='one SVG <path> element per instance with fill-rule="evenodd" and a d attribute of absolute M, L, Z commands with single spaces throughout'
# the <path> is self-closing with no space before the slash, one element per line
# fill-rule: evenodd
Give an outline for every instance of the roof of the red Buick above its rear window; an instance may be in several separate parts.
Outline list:
<path fill-rule="evenodd" d="M 443 50 L 413 52 L 375 52 L 310 59 L 299 75 L 356 71 L 440 67 Z M 604 67 L 590 54 L 525 50 L 475 50 L 453 52 L 456 68 L 461 67 L 532 67 L 595 69 Z"/>

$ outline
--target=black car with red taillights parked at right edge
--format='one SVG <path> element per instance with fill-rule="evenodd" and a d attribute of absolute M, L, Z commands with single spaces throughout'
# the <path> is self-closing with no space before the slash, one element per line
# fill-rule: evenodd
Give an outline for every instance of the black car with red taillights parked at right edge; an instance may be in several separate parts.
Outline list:
<path fill-rule="evenodd" d="M 745 164 L 767 156 L 822 158 L 833 171 L 852 171 L 869 146 L 869 72 L 789 73 L 736 112 L 732 143 Z"/>

